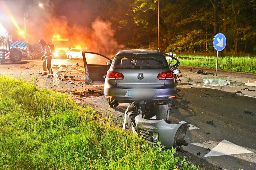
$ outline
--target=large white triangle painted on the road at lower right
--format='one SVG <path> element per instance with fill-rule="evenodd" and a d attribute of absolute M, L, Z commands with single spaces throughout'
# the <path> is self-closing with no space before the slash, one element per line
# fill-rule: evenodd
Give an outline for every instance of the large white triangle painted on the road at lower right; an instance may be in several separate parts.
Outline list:
<path fill-rule="evenodd" d="M 233 154 L 241 154 L 241 153 L 252 153 L 252 152 L 245 148 L 242 148 L 241 146 L 231 143 L 227 140 L 222 140 L 217 146 L 215 146 L 204 157 L 233 155 Z"/>

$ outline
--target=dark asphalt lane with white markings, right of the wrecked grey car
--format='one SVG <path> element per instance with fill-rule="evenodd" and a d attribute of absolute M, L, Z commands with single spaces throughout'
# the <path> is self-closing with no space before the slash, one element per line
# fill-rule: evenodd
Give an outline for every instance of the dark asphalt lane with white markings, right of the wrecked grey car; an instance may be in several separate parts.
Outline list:
<path fill-rule="evenodd" d="M 223 169 L 255 169 L 256 99 L 216 89 L 179 89 L 182 98 L 176 99 L 171 120 L 190 122 L 199 128 L 188 131 L 185 140 L 189 145 L 184 149 Z M 247 113 L 253 113 L 246 114 L 245 110 Z M 206 123 L 209 121 L 212 121 L 213 125 Z M 222 140 L 241 146 L 252 153 L 205 157 Z M 236 149 L 234 145 L 230 147 L 231 150 Z M 230 147 L 226 146 L 218 152 L 227 153 Z M 207 150 L 208 148 L 210 150 Z"/>

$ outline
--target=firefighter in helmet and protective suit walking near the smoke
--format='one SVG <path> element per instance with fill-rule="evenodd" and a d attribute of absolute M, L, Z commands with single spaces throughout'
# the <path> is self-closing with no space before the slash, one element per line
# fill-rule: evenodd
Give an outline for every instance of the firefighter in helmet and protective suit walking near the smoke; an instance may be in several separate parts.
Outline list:
<path fill-rule="evenodd" d="M 53 77 L 53 72 L 52 72 L 52 68 L 51 68 L 53 52 L 50 48 L 50 45 L 42 39 L 38 41 L 38 44 L 42 45 L 41 49 L 42 49 L 42 52 L 44 53 L 44 55 L 41 58 L 42 60 L 44 60 L 44 62 L 43 62 L 44 73 L 42 75 L 46 76 L 47 69 L 48 69 L 48 71 L 49 71 L 48 77 Z"/>

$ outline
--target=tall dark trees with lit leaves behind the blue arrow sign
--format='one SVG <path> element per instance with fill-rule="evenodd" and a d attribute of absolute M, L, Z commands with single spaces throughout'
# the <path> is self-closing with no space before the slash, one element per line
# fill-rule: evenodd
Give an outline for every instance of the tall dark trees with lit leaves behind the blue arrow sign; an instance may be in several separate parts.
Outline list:
<path fill-rule="evenodd" d="M 112 10 L 115 38 L 129 48 L 157 49 L 158 0 L 104 1 Z M 225 52 L 256 52 L 255 0 L 160 0 L 161 51 L 213 52 L 216 33 L 227 38 Z"/>

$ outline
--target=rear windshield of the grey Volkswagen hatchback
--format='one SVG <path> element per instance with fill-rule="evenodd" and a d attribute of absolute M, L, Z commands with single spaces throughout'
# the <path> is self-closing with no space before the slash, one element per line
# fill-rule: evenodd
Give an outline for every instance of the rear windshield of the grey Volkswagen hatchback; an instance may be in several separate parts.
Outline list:
<path fill-rule="evenodd" d="M 112 68 L 168 68 L 168 63 L 159 53 L 128 53 L 117 55 Z"/>

